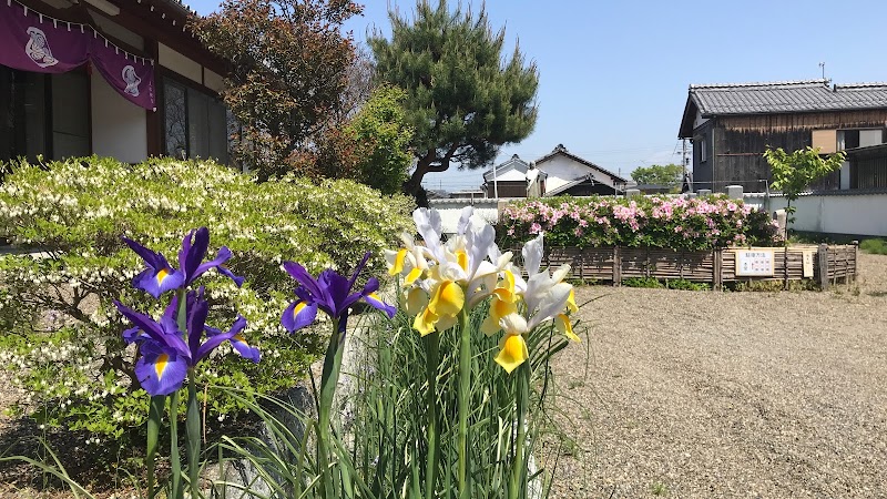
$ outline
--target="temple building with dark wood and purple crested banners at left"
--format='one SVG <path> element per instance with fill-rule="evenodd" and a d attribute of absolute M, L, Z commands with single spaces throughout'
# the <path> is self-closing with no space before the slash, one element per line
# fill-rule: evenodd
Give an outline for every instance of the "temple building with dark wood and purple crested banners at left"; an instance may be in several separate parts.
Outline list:
<path fill-rule="evenodd" d="M 224 63 L 177 0 L 0 2 L 0 161 L 228 159 Z"/>

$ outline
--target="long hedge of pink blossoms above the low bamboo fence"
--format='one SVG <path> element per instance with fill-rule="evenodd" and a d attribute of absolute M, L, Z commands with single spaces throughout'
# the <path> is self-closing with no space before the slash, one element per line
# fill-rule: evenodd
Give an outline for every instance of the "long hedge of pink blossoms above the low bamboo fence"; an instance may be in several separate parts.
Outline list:
<path fill-rule="evenodd" d="M 509 205 L 500 217 L 502 247 L 540 232 L 552 246 L 628 246 L 707 251 L 781 243 L 766 212 L 723 195 L 551 197 Z"/>

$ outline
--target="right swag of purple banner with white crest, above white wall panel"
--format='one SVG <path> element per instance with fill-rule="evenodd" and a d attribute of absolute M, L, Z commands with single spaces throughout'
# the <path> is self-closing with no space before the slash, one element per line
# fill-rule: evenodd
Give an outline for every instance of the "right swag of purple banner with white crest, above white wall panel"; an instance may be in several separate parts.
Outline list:
<path fill-rule="evenodd" d="M 102 37 L 92 39 L 90 58 L 95 69 L 124 99 L 147 110 L 156 109 L 154 67 L 150 59 L 128 54 Z"/>

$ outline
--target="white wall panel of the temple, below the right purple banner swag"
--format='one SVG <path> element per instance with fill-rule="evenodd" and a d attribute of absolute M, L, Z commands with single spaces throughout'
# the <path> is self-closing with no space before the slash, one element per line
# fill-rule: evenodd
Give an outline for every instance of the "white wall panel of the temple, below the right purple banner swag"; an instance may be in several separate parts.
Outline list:
<path fill-rule="evenodd" d="M 99 74 L 92 72 L 92 152 L 125 163 L 147 157 L 145 110 L 123 99 Z"/>

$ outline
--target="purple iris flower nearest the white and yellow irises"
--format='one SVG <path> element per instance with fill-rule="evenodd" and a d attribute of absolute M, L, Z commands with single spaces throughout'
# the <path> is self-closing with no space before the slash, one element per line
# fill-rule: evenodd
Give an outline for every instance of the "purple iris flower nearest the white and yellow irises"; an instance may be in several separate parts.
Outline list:
<path fill-rule="evenodd" d="M 284 269 L 293 276 L 299 286 L 296 288 L 296 299 L 284 310 L 281 324 L 286 330 L 294 333 L 314 322 L 317 310 L 323 310 L 329 317 L 337 319 L 339 333 L 344 333 L 348 319 L 348 310 L 357 302 L 364 302 L 385 312 L 388 317 L 395 316 L 395 307 L 384 303 L 376 291 L 379 281 L 370 277 L 363 289 L 351 293 L 357 276 L 366 267 L 369 252 L 354 271 L 350 278 L 339 275 L 336 271 L 327 268 L 317 278 L 295 262 L 284 262 Z"/>

